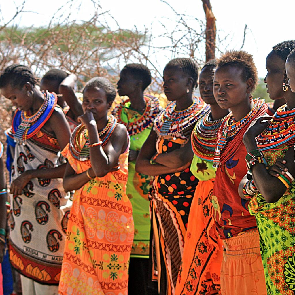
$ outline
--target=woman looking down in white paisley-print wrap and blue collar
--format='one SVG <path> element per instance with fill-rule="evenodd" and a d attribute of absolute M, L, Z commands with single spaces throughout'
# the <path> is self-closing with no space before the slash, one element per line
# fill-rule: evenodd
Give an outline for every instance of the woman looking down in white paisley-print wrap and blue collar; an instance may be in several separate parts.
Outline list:
<path fill-rule="evenodd" d="M 41 92 L 32 71 L 11 65 L 0 76 L 1 94 L 17 107 L 7 132 L 11 168 L 9 256 L 21 273 L 23 294 L 58 294 L 71 201 L 62 185 L 60 150 L 70 127 L 55 94 Z"/>

